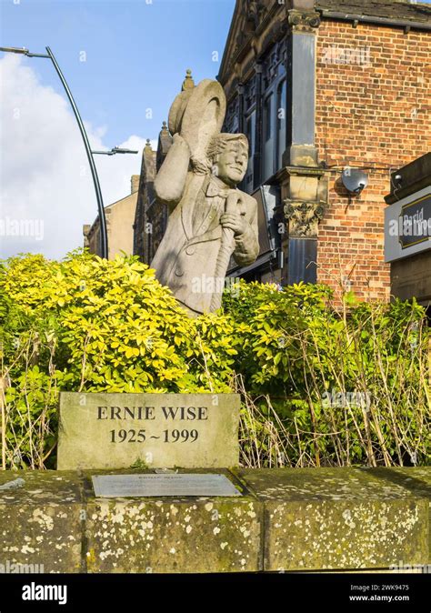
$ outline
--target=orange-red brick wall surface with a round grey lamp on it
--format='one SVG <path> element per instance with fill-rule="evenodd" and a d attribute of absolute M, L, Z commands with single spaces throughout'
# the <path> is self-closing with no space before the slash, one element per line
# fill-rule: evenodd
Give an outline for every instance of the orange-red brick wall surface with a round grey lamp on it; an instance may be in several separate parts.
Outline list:
<path fill-rule="evenodd" d="M 387 300 L 383 196 L 389 167 L 431 149 L 431 32 L 324 20 L 316 72 L 316 146 L 335 166 L 319 226 L 318 281 L 336 287 L 350 274 L 357 296 Z M 373 168 L 350 205 L 339 185 L 344 166 Z"/>

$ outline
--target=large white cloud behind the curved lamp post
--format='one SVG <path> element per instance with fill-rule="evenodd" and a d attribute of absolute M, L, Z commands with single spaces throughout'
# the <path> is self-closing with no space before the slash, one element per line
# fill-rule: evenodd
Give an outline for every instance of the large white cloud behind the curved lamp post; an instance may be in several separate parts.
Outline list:
<path fill-rule="evenodd" d="M 97 214 L 75 116 L 66 98 L 42 85 L 20 56 L 0 60 L 0 82 L 0 258 L 27 251 L 65 256 L 83 245 L 82 226 Z M 85 128 L 93 149 L 116 145 L 139 151 L 95 156 L 106 206 L 130 193 L 145 138 L 134 135 L 123 143 L 105 144 L 106 126 L 85 123 Z M 10 236 L 18 226 L 22 236 Z"/>

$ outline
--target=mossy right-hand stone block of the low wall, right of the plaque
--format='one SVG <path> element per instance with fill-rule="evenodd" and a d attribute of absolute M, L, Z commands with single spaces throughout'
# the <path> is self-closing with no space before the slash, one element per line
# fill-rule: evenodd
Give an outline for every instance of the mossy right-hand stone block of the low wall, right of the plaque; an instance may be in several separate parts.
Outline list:
<path fill-rule="evenodd" d="M 240 470 L 264 503 L 264 568 L 389 568 L 428 561 L 428 468 Z"/>

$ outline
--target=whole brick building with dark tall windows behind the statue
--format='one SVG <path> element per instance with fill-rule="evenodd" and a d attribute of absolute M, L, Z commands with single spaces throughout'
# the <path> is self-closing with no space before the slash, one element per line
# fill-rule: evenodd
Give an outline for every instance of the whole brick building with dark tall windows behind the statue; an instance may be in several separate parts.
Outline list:
<path fill-rule="evenodd" d="M 231 276 L 325 282 L 388 299 L 384 196 L 391 170 L 431 148 L 430 51 L 429 5 L 236 0 L 217 78 L 227 97 L 223 129 L 250 143 L 241 187 L 260 204 L 261 253 Z M 164 130 L 157 168 L 171 142 Z M 366 173 L 359 193 L 343 185 L 346 168 Z M 146 262 L 167 221 L 151 201 L 151 180 L 141 176 L 135 222 L 135 253 Z M 155 220 L 151 236 L 145 220 Z"/>

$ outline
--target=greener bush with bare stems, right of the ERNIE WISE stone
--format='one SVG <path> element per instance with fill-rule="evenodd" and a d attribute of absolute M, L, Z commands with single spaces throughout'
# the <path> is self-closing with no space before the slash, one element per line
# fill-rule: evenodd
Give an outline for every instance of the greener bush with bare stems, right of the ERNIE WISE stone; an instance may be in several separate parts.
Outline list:
<path fill-rule="evenodd" d="M 243 281 L 225 296 L 242 337 L 234 368 L 250 396 L 245 441 L 264 424 L 271 436 L 256 436 L 254 449 L 266 466 L 426 464 L 424 308 L 356 304 L 350 293 L 341 309 L 331 301 L 326 286 Z"/>

